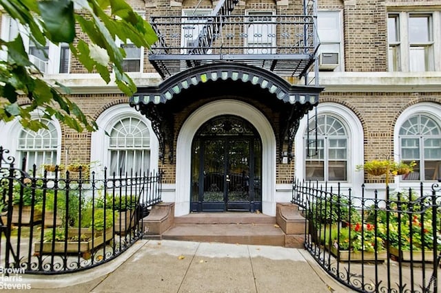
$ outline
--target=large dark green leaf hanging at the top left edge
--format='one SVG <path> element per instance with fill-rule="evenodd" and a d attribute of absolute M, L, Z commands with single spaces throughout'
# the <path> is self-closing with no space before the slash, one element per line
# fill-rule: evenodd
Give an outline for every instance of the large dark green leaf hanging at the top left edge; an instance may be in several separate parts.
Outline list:
<path fill-rule="evenodd" d="M 44 0 L 38 6 L 49 39 L 54 43 L 72 43 L 75 38 L 74 3 L 70 0 Z"/>

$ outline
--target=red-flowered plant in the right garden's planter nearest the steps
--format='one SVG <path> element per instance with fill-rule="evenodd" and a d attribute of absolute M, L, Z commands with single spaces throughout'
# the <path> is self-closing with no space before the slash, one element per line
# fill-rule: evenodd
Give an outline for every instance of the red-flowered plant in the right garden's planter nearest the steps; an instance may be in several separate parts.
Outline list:
<path fill-rule="evenodd" d="M 350 224 L 340 228 L 337 237 L 337 230 L 331 235 L 331 245 L 338 250 L 352 250 L 354 252 L 364 250 L 365 252 L 375 252 L 384 250 L 384 242 L 379 235 L 376 237 L 375 226 L 373 224 Z"/>

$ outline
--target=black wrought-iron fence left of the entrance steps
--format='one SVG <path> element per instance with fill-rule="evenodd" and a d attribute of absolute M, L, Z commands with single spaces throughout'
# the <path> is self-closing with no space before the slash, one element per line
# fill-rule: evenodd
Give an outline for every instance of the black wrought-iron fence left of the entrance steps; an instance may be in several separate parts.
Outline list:
<path fill-rule="evenodd" d="M 14 166 L 0 146 L 0 267 L 31 274 L 92 268 L 143 235 L 143 217 L 161 202 L 162 173 L 96 178 L 87 165 Z"/>

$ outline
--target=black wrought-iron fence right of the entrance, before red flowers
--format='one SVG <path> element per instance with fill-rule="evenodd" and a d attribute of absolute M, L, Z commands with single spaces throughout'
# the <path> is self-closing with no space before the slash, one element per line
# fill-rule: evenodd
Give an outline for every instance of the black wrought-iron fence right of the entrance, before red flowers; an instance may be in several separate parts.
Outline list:
<path fill-rule="evenodd" d="M 438 292 L 440 184 L 351 195 L 294 182 L 292 202 L 307 219 L 305 248 L 334 279 L 358 292 Z"/>

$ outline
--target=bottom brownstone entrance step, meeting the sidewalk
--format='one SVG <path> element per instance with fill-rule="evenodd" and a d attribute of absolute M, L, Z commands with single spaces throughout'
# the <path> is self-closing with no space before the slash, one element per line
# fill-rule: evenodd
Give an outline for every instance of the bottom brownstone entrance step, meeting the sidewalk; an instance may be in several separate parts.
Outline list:
<path fill-rule="evenodd" d="M 285 246 L 285 233 L 273 224 L 174 224 L 162 239 Z"/>

